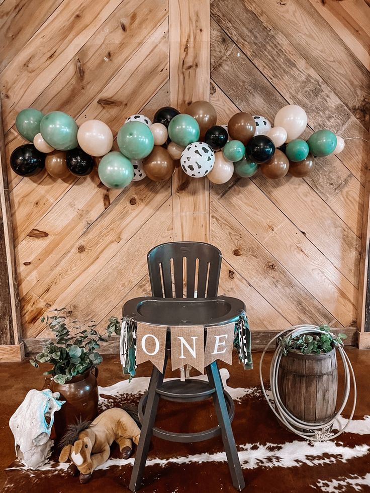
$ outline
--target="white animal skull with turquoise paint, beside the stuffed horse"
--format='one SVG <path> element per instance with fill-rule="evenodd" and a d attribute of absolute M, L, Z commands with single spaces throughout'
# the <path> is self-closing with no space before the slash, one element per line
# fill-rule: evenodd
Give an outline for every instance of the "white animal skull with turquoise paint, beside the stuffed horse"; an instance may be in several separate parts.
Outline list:
<path fill-rule="evenodd" d="M 50 389 L 29 390 L 23 403 L 9 420 L 14 435 L 16 455 L 30 469 L 38 469 L 50 456 L 54 413 L 65 401 L 57 401 L 59 392 Z"/>

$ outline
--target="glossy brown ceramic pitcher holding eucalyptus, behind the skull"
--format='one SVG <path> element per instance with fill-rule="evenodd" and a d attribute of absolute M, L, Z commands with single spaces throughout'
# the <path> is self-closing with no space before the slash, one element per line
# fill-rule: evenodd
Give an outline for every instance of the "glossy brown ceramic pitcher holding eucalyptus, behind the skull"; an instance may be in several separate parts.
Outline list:
<path fill-rule="evenodd" d="M 45 378 L 44 388 L 60 393 L 60 400 L 66 401 L 54 415 L 54 430 L 56 440 L 59 441 L 66 431 L 66 427 L 82 421 L 94 420 L 98 415 L 98 377 L 99 370 L 91 366 L 80 375 L 72 377 L 66 383 L 56 383 L 52 376 Z"/>

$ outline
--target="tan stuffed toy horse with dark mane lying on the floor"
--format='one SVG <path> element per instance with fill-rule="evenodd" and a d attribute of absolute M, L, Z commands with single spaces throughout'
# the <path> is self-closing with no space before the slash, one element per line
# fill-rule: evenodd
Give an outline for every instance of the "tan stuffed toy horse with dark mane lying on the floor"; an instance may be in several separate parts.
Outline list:
<path fill-rule="evenodd" d="M 94 469 L 108 460 L 110 446 L 116 441 L 120 447 L 121 458 L 128 459 L 132 454 L 132 442 L 139 443 L 137 411 L 130 405 L 104 411 L 93 422 L 79 421 L 69 425 L 60 446 L 59 462 L 71 460 L 67 471 L 87 483 Z"/>

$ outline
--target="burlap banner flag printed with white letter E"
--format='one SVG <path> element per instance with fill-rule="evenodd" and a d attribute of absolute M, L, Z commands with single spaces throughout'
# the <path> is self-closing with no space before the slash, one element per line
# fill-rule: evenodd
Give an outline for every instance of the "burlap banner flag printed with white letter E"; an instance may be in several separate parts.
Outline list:
<path fill-rule="evenodd" d="M 204 366 L 220 359 L 231 365 L 233 357 L 235 322 L 207 328 L 206 348 L 204 350 Z"/>

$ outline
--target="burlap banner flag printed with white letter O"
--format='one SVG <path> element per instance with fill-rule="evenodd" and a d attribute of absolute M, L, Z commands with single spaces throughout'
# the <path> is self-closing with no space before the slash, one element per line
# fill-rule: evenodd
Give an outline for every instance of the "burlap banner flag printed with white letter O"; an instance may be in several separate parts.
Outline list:
<path fill-rule="evenodd" d="M 137 323 L 136 364 L 150 361 L 163 371 L 167 329 L 163 326 Z"/>

